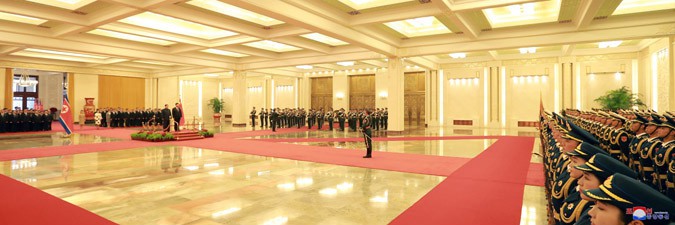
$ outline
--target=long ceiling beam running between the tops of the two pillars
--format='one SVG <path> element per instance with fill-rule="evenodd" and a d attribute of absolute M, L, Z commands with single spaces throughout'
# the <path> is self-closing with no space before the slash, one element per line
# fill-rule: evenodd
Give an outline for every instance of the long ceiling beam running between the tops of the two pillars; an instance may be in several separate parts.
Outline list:
<path fill-rule="evenodd" d="M 382 54 L 374 52 L 364 52 L 364 53 L 346 53 L 346 54 L 333 54 L 333 55 L 324 55 L 324 56 L 315 56 L 315 57 L 306 57 L 306 58 L 292 58 L 284 60 L 275 60 L 269 62 L 254 62 L 248 64 L 242 64 L 242 70 L 257 70 L 257 69 L 268 69 L 284 66 L 296 66 L 304 64 L 316 64 L 316 63 L 331 63 L 339 61 L 360 61 L 368 59 L 381 59 L 384 58 Z"/>

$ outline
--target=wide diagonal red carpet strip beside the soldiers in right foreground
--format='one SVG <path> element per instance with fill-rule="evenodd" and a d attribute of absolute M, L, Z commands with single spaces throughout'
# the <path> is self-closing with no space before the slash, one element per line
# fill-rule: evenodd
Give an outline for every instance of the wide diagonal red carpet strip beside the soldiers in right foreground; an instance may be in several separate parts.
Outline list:
<path fill-rule="evenodd" d="M 533 144 L 501 138 L 390 224 L 519 224 Z"/>

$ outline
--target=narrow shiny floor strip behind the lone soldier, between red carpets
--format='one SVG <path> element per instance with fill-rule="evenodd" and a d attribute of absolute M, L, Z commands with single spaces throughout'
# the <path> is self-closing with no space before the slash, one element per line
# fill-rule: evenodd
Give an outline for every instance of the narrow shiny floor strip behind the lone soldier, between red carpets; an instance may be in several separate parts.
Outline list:
<path fill-rule="evenodd" d="M 407 154 L 473 158 L 494 144 L 497 139 L 435 140 L 435 141 L 373 141 L 373 150 Z M 292 144 L 325 146 L 341 149 L 366 148 L 364 142 L 290 142 Z"/>

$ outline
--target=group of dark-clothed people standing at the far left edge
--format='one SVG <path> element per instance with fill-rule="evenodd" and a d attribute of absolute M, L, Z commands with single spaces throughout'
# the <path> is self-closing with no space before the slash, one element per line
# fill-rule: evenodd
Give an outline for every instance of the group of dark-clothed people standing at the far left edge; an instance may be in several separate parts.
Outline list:
<path fill-rule="evenodd" d="M 0 133 L 52 130 L 52 115 L 49 110 L 0 111 Z"/>

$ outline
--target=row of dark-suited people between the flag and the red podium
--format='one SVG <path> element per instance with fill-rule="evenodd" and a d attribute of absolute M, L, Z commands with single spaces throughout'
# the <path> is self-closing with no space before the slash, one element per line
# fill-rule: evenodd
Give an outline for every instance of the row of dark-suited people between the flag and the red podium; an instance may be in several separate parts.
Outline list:
<path fill-rule="evenodd" d="M 97 113 L 101 114 L 101 127 L 140 127 L 153 117 L 154 123 L 163 123 L 160 109 L 99 108 Z"/>

